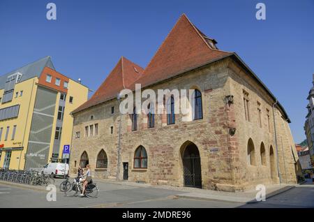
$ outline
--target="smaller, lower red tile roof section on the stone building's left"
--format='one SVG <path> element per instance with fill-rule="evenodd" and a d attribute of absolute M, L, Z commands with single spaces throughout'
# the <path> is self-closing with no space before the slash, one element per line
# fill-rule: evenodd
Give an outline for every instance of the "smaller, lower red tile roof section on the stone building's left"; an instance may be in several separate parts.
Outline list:
<path fill-rule="evenodd" d="M 128 89 L 130 85 L 138 79 L 144 69 L 132 61 L 121 57 L 117 65 L 107 76 L 105 81 L 96 90 L 95 94 L 79 108 L 73 111 L 80 112 L 93 105 L 98 105 L 112 98 L 116 98 L 122 89 Z"/>

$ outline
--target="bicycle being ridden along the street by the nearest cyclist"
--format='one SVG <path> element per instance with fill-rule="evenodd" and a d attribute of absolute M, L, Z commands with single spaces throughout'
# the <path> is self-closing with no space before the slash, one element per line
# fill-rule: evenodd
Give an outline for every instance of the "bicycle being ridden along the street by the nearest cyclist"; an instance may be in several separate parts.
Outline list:
<path fill-rule="evenodd" d="M 68 197 L 77 196 L 79 191 L 80 193 L 82 193 L 82 185 L 83 185 L 82 179 L 80 179 L 79 177 L 75 178 L 68 191 L 65 192 L 66 196 Z M 85 196 L 89 198 L 96 198 L 98 195 L 98 191 L 99 191 L 98 186 L 94 184 L 93 181 L 91 180 L 91 182 L 87 184 L 87 187 L 85 189 Z"/>

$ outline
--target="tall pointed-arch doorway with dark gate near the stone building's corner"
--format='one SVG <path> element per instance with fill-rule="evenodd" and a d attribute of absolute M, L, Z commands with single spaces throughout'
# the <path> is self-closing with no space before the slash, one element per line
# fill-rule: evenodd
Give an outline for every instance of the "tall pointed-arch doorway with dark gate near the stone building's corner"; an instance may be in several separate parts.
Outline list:
<path fill-rule="evenodd" d="M 202 188 L 200 152 L 193 142 L 188 142 L 182 156 L 184 186 Z"/>

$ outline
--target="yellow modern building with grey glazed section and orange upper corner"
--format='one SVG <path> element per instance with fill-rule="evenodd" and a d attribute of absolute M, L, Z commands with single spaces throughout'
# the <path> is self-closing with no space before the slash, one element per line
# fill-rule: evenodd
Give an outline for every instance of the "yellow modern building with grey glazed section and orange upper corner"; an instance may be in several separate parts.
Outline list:
<path fill-rule="evenodd" d="M 70 112 L 88 93 L 88 87 L 58 73 L 50 57 L 0 76 L 0 168 L 68 161 L 63 149 L 72 138 Z"/>

